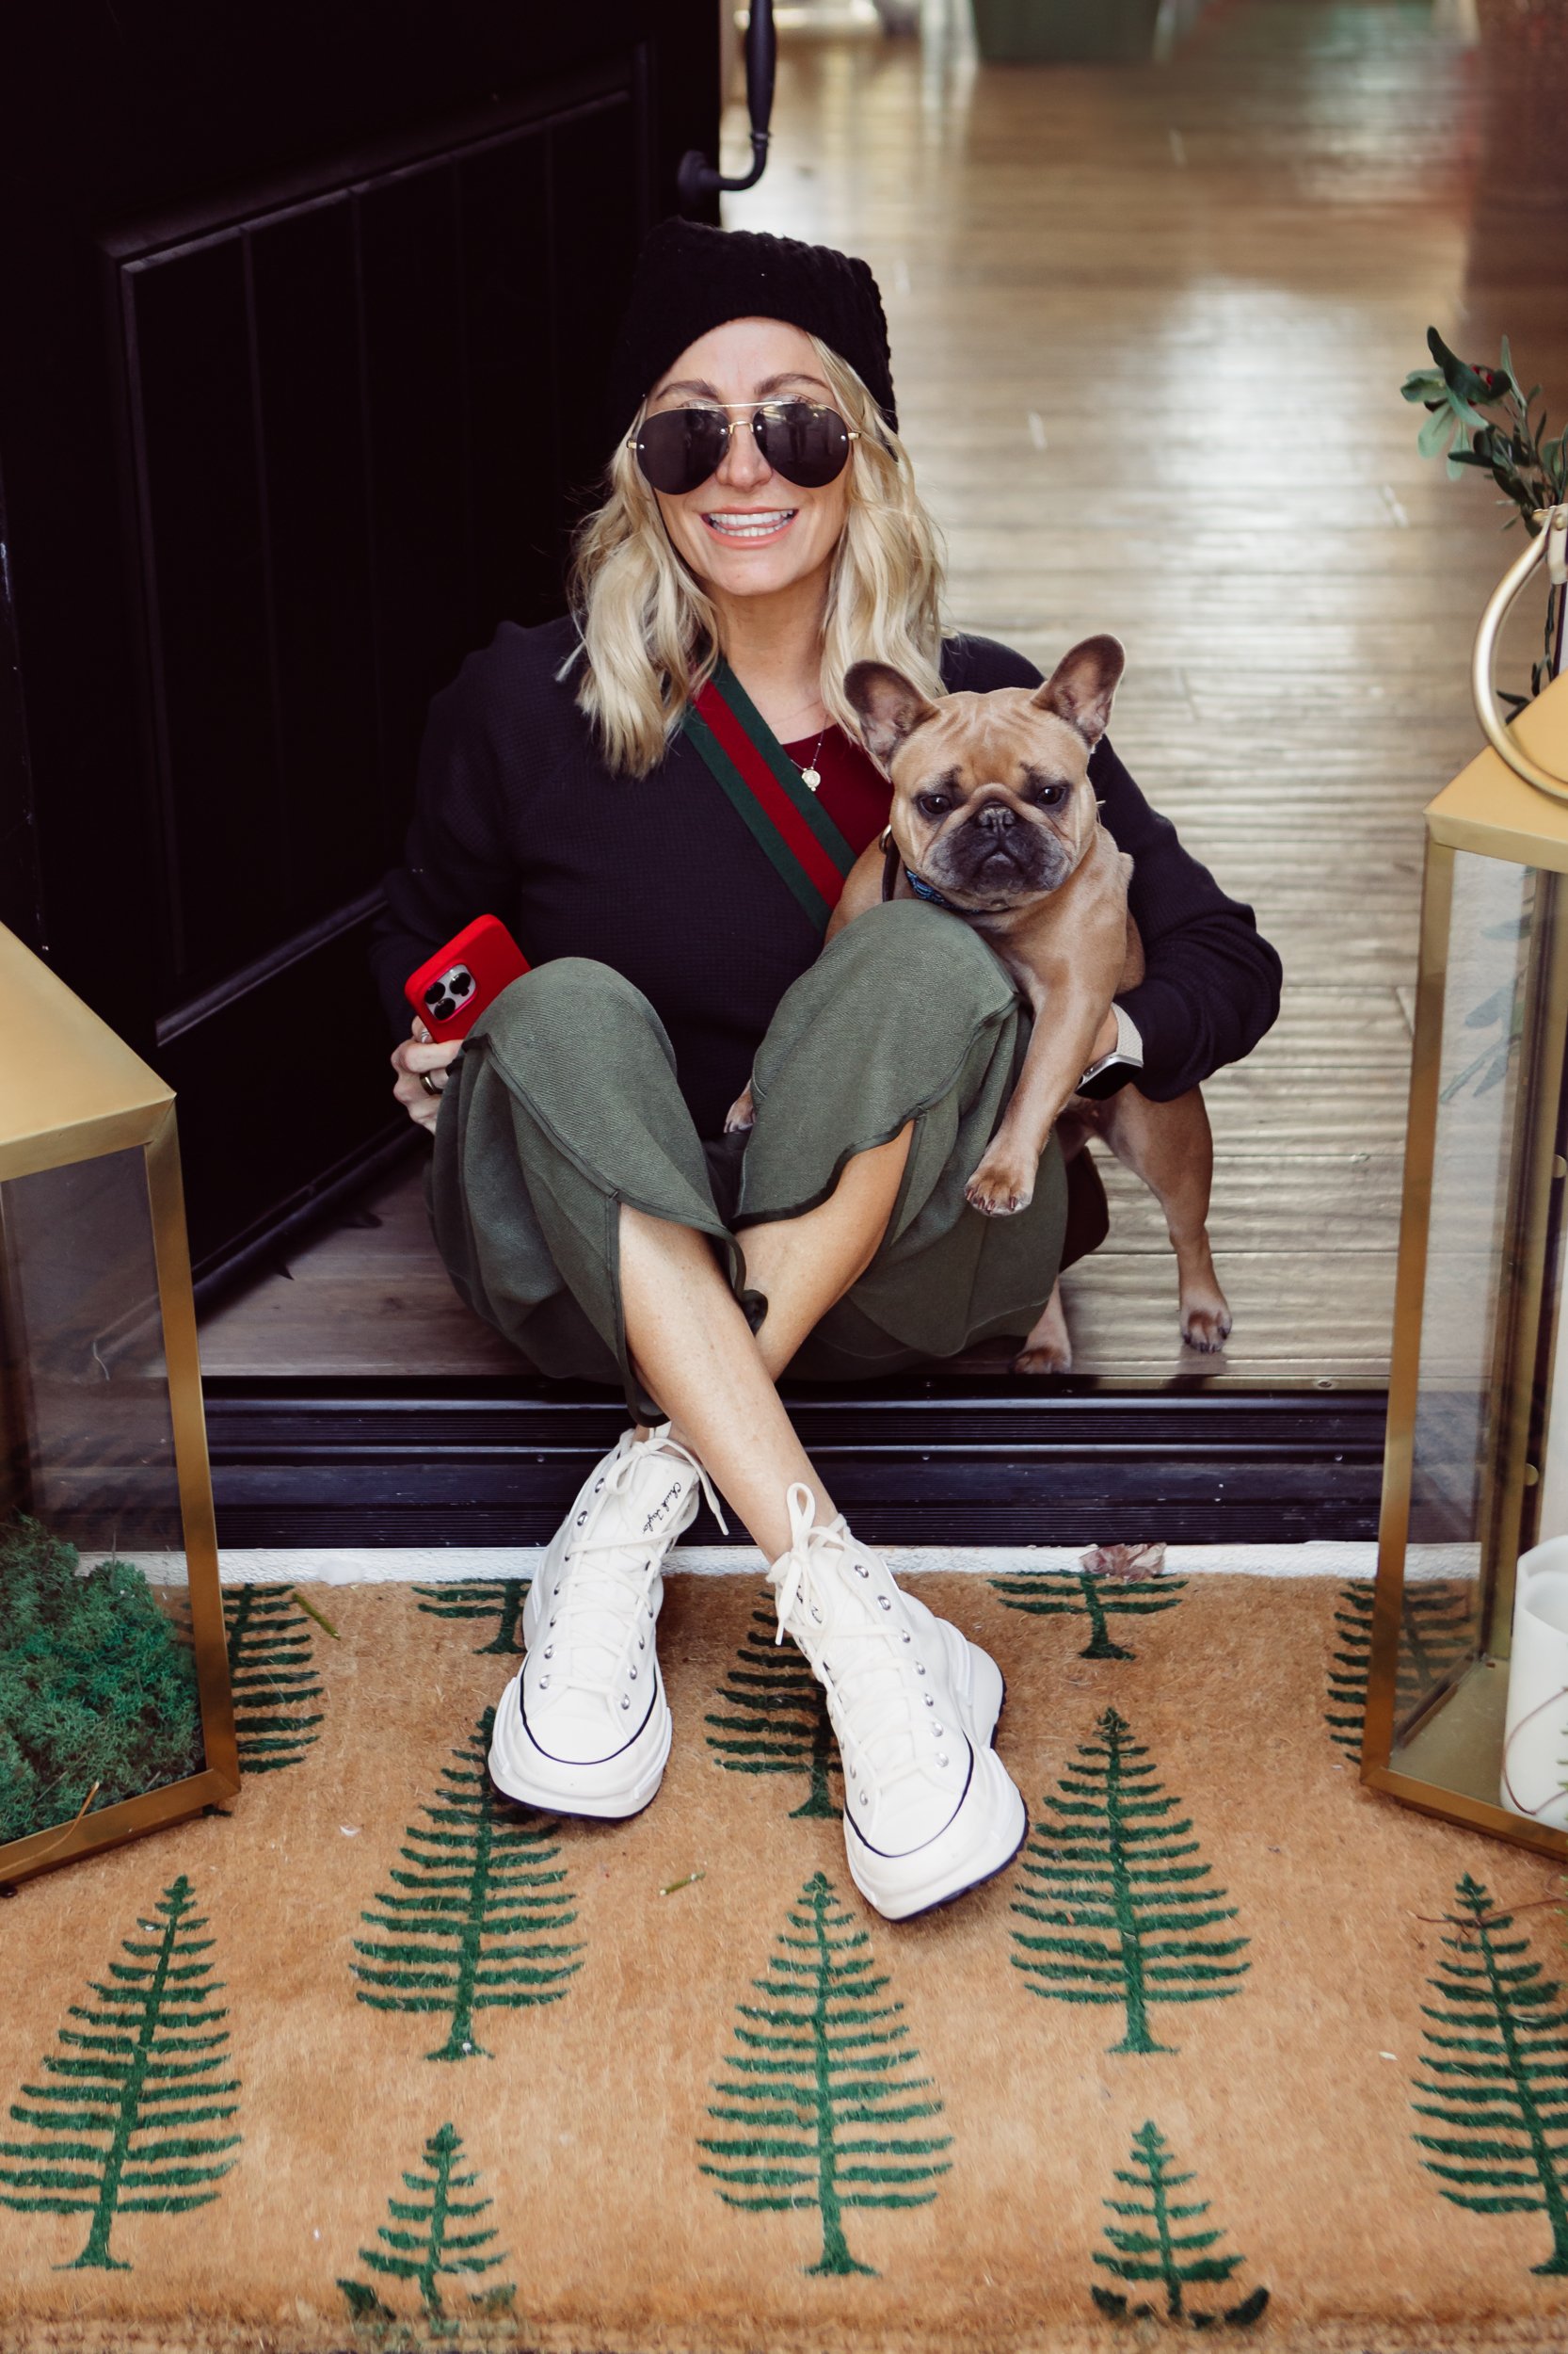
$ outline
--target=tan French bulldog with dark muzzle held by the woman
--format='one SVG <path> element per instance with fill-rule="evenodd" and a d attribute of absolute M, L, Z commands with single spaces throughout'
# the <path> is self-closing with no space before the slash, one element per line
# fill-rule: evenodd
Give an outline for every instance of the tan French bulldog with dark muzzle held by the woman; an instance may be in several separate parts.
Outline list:
<path fill-rule="evenodd" d="M 1099 824 L 1090 751 L 1123 671 L 1116 638 L 1074 645 L 1038 692 L 996 687 L 930 701 L 899 671 L 857 661 L 845 694 L 876 765 L 892 782 L 888 833 L 857 859 L 829 939 L 883 897 L 937 897 L 975 925 L 1029 1000 L 1034 1031 L 1012 1099 L 965 1193 L 984 1217 L 1024 1210 L 1050 1139 L 1062 1151 L 1104 1137 L 1158 1198 L 1177 1255 L 1182 1339 L 1224 1346 L 1231 1314 L 1208 1248 L 1215 1146 L 1203 1095 L 1154 1104 L 1135 1085 L 1081 1097 L 1111 998 L 1144 975 L 1128 911 L 1125 857 Z M 730 1125 L 749 1125 L 746 1095 Z M 1019 1372 L 1067 1372 L 1071 1337 L 1059 1285 L 1019 1356 Z"/>

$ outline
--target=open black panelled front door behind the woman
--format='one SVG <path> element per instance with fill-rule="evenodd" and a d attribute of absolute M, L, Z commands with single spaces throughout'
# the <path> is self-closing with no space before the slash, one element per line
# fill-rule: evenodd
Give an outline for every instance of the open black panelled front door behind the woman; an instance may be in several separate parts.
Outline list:
<path fill-rule="evenodd" d="M 560 610 L 718 19 L 16 14 L 0 916 L 179 1090 L 198 1271 L 233 1266 L 407 1130 L 377 878 L 431 694 Z"/>

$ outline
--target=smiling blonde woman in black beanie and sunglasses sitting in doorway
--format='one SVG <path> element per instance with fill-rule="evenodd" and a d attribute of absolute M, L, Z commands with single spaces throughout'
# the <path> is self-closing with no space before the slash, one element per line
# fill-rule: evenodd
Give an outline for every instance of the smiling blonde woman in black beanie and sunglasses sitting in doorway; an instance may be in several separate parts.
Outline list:
<path fill-rule="evenodd" d="M 636 1424 L 532 1584 L 490 1770 L 553 1813 L 647 1806 L 671 1744 L 659 1572 L 718 1488 L 826 1688 L 850 1874 L 902 1919 L 1024 1836 L 991 1749 L 1003 1681 L 850 1535 L 777 1382 L 1022 1337 L 1107 1219 L 1088 1156 L 1069 1177 L 1055 1144 L 1017 1217 L 965 1205 L 1029 1022 L 965 923 L 899 899 L 822 949 L 890 798 L 843 678 L 876 659 L 939 694 L 1038 671 L 942 636 L 864 261 L 666 221 L 612 412 L 572 617 L 501 624 L 436 697 L 377 939 L 388 1005 L 483 911 L 523 944 L 534 970 L 461 1052 L 419 1026 L 398 1045 L 396 1095 L 436 1135 L 461 1297 L 527 1368 L 619 1382 Z M 1092 777 L 1135 859 L 1140 1085 L 1175 1097 L 1267 1031 L 1278 958 L 1104 742 Z M 749 1078 L 756 1125 L 725 1135 Z"/>

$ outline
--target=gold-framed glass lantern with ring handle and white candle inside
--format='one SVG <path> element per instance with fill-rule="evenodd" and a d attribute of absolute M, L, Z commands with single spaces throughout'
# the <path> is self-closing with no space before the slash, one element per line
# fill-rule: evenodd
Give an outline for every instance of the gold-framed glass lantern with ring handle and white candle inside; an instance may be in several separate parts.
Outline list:
<path fill-rule="evenodd" d="M 1568 678 L 1490 699 L 1559 518 L 1476 640 L 1495 749 L 1427 810 L 1361 1780 L 1568 1857 Z"/>

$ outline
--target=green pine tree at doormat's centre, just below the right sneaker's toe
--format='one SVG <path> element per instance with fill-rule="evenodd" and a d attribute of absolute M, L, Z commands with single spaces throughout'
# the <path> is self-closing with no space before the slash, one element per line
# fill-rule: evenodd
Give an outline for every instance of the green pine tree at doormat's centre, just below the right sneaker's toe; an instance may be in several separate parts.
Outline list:
<path fill-rule="evenodd" d="M 812 2274 L 866 2272 L 850 2255 L 850 2208 L 930 2206 L 949 2133 L 932 2133 L 942 2102 L 930 2076 L 911 2076 L 902 2003 L 881 2003 L 871 1937 L 815 1871 L 763 1977 L 760 2003 L 737 2003 L 735 2053 L 716 2079 L 709 2116 L 737 2133 L 699 2137 L 704 2175 L 725 2206 L 815 2208 L 822 2255 Z M 916 2128 L 916 2130 L 909 2130 Z"/>

